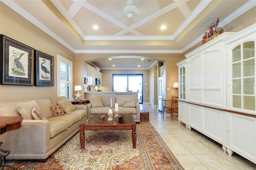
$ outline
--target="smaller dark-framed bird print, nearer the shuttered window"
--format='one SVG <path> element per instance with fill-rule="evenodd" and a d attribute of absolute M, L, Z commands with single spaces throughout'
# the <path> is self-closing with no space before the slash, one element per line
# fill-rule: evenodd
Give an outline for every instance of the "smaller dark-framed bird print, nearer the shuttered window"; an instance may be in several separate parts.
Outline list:
<path fill-rule="evenodd" d="M 54 57 L 35 50 L 35 86 L 54 86 Z"/>

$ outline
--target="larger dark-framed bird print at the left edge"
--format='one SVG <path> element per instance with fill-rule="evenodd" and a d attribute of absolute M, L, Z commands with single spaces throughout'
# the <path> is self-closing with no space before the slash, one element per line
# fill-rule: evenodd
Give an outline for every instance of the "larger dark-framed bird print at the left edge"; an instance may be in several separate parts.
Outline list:
<path fill-rule="evenodd" d="M 34 85 L 34 48 L 0 35 L 1 84 Z"/>

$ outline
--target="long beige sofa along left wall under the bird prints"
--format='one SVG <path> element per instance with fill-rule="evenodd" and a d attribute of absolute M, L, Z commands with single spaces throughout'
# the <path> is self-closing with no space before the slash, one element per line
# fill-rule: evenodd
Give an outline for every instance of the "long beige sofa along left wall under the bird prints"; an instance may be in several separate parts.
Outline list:
<path fill-rule="evenodd" d="M 62 105 L 64 115 L 53 117 L 51 106 Z M 32 109 L 40 109 L 47 120 L 35 120 Z M 62 112 L 63 113 L 63 112 Z M 45 162 L 55 150 L 79 130 L 87 119 L 85 105 L 72 105 L 66 97 L 0 102 L 0 117 L 22 116 L 22 127 L 0 136 L 6 159 L 39 159 Z M 38 117 L 36 117 L 38 119 Z M 77 141 L 79 143 L 79 141 Z"/>

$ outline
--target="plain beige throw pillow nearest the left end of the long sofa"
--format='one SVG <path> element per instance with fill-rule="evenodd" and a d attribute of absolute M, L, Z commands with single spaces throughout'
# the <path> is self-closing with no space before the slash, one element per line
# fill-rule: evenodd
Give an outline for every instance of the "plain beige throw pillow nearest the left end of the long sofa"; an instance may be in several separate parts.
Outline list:
<path fill-rule="evenodd" d="M 32 116 L 32 110 L 34 106 L 39 107 L 34 100 L 26 103 L 17 103 L 17 110 L 24 120 L 33 120 L 34 117 Z"/>

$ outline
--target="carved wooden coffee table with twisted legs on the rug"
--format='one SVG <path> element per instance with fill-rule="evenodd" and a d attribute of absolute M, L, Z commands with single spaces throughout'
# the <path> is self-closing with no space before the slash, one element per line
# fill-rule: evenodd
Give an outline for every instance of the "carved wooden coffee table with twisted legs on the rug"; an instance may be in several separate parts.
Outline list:
<path fill-rule="evenodd" d="M 100 120 L 101 115 L 106 115 L 104 120 Z M 124 119 L 118 121 L 113 117 L 113 121 L 108 121 L 108 114 L 94 114 L 86 122 L 80 124 L 80 143 L 84 149 L 85 134 L 84 130 L 132 130 L 132 148 L 136 148 L 136 123 L 132 113 L 124 114 Z"/>

